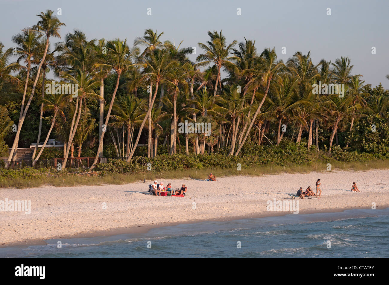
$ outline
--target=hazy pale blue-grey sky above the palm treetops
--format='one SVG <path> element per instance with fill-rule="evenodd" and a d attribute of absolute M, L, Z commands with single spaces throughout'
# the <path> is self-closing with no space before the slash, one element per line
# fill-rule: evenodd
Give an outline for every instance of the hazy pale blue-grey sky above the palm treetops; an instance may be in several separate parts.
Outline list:
<path fill-rule="evenodd" d="M 314 63 L 348 56 L 353 73 L 364 75 L 374 87 L 389 89 L 388 0 L 0 0 L 0 41 L 12 47 L 12 35 L 37 23 L 35 16 L 51 9 L 66 24 L 61 37 L 79 29 L 92 38 L 127 38 L 132 45 L 144 30 L 164 31 L 162 40 L 196 47 L 208 40 L 207 31 L 223 30 L 228 42 L 244 37 L 259 51 L 275 47 L 287 60 L 295 51 L 311 51 Z M 147 9 L 151 8 L 151 15 Z M 237 15 L 237 9 L 241 15 Z M 331 15 L 327 15 L 327 8 Z M 53 42 L 59 39 L 53 39 Z M 286 54 L 281 54 L 286 47 Z M 372 47 L 376 54 L 371 53 Z M 192 59 L 195 55 L 191 56 Z"/>

